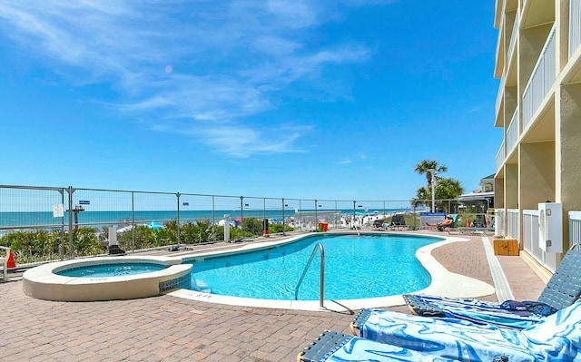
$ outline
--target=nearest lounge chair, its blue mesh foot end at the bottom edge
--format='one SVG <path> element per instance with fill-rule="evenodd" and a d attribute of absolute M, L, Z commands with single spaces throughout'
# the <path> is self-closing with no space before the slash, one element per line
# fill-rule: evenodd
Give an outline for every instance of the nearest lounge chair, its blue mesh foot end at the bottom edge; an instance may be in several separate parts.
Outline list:
<path fill-rule="evenodd" d="M 386 345 L 369 339 L 326 330 L 297 356 L 297 362 L 346 361 L 457 361 L 408 348 Z"/>

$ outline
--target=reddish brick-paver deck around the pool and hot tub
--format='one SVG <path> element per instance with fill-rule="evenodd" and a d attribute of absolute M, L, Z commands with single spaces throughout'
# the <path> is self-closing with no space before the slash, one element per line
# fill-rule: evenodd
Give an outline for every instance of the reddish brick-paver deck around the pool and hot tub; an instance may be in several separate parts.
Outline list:
<path fill-rule="evenodd" d="M 486 242 L 492 240 L 466 238 L 469 241 L 434 249 L 432 255 L 451 272 L 494 284 L 485 250 Z M 215 244 L 203 248 L 238 247 Z M 496 259 L 514 298 L 538 298 L 546 279 L 525 258 Z M 25 296 L 23 282 L 15 274 L 9 274 L 9 282 L 0 283 L 0 293 L 0 350 L 6 361 L 294 361 L 322 330 L 350 333 L 353 318 L 350 312 L 236 307 L 171 295 L 100 302 L 45 301 Z M 497 296 L 482 299 L 496 300 Z M 401 306 L 389 309 L 408 311 Z"/>

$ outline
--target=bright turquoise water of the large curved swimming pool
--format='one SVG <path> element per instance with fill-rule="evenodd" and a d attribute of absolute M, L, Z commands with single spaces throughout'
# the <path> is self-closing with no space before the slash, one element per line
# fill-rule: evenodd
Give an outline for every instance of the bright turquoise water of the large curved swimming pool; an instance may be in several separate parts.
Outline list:
<path fill-rule="evenodd" d="M 294 300 L 313 248 L 325 249 L 325 299 L 376 298 L 425 289 L 431 282 L 415 253 L 441 238 L 395 234 L 317 235 L 249 253 L 191 260 L 192 289 L 232 297 Z M 298 300 L 319 299 L 320 256 Z"/>

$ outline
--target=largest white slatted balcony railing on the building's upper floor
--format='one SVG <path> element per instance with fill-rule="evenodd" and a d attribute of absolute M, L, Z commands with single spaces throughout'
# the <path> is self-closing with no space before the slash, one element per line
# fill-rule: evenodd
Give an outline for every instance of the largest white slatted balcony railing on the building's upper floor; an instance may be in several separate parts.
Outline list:
<path fill-rule="evenodd" d="M 533 119 L 548 91 L 556 80 L 556 37 L 555 25 L 548 34 L 547 43 L 538 57 L 537 64 L 523 93 L 523 130 Z"/>

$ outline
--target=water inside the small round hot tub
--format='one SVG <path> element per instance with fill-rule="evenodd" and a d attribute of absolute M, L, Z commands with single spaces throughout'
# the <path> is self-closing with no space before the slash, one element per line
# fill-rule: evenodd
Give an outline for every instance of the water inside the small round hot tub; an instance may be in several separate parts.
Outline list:
<path fill-rule="evenodd" d="M 109 278 L 150 273 L 165 268 L 165 265 L 155 263 L 113 263 L 84 265 L 81 267 L 60 270 L 55 274 L 75 278 Z"/>

